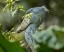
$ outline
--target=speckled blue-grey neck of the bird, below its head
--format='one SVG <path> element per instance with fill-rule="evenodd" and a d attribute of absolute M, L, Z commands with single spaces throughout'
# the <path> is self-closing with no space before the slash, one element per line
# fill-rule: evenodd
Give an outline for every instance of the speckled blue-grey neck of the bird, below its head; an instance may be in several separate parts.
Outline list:
<path fill-rule="evenodd" d="M 30 48 L 32 48 L 31 45 L 33 45 L 33 46 L 36 45 L 36 42 L 33 40 L 32 35 L 35 33 L 35 31 L 37 29 L 38 29 L 37 25 L 31 24 L 27 27 L 27 29 L 25 31 L 25 39 L 26 39 L 27 43 L 29 44 Z"/>

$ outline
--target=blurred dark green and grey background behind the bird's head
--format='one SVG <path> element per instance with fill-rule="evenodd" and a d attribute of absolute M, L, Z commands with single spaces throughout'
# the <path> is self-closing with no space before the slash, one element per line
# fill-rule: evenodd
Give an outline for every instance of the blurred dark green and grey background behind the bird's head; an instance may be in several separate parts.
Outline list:
<path fill-rule="evenodd" d="M 25 10 L 45 5 L 50 10 L 44 21 L 45 27 L 47 28 L 55 24 L 64 27 L 64 0 L 20 0 L 15 3 L 14 9 L 16 9 L 19 4 L 24 6 Z M 5 5 L 4 0 L 0 0 L 0 23 L 3 25 L 2 31 L 10 30 L 13 27 L 17 28 L 22 21 L 20 17 L 12 17 L 8 9 L 2 12 Z M 25 13 L 22 12 L 21 16 L 24 14 Z M 0 47 L 0 52 L 5 51 Z"/>

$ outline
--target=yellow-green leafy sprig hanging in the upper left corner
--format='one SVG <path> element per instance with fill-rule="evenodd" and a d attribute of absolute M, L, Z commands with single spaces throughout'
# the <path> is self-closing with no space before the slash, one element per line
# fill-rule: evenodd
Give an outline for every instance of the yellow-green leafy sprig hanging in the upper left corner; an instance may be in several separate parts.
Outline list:
<path fill-rule="evenodd" d="M 3 12 L 6 10 L 6 8 L 9 9 L 9 11 L 12 13 L 12 17 L 15 16 L 15 14 L 19 15 L 18 13 L 21 12 L 25 12 L 24 7 L 21 5 L 18 5 L 17 8 L 15 10 L 14 9 L 14 5 L 16 2 L 18 2 L 19 0 L 6 0 L 5 2 L 7 3 L 6 6 L 3 8 Z M 21 15 L 19 15 L 21 16 Z"/>

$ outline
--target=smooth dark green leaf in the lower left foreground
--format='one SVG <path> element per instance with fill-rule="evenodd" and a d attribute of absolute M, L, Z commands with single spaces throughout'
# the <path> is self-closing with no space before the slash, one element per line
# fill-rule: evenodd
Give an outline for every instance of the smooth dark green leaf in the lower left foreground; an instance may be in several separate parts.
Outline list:
<path fill-rule="evenodd" d="M 20 46 L 19 42 L 9 42 L 2 35 L 2 26 L 0 25 L 0 45 L 7 52 L 24 52 L 23 48 Z"/>

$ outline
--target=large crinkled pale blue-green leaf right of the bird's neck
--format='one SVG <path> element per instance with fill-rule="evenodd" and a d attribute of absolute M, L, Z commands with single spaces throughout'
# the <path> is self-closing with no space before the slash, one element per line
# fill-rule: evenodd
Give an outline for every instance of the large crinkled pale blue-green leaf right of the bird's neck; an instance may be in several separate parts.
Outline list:
<path fill-rule="evenodd" d="M 36 32 L 33 37 L 41 45 L 41 52 L 43 52 L 43 50 L 46 52 L 48 50 L 50 52 L 49 48 L 51 50 L 60 50 L 64 47 L 64 28 L 57 25 L 50 26 L 40 32 Z M 43 47 L 45 48 L 41 49 Z"/>

